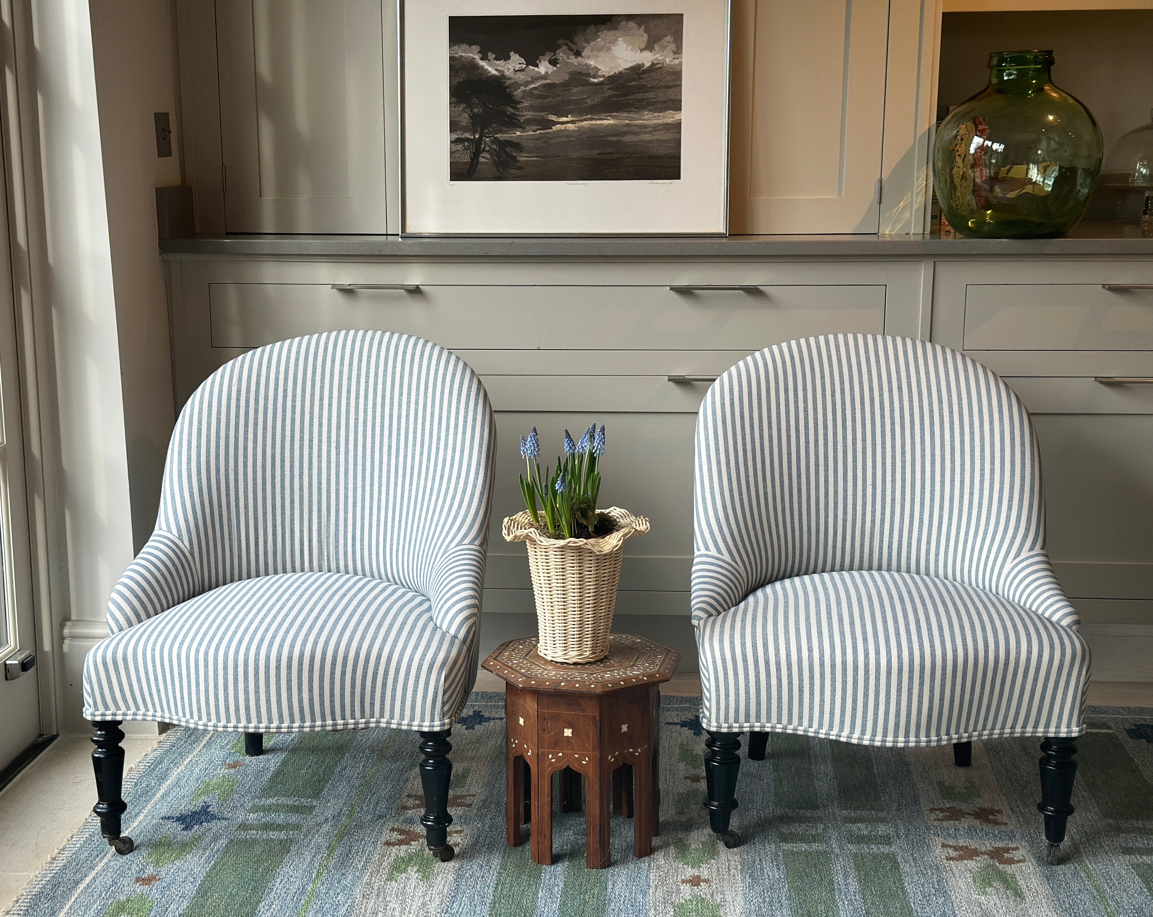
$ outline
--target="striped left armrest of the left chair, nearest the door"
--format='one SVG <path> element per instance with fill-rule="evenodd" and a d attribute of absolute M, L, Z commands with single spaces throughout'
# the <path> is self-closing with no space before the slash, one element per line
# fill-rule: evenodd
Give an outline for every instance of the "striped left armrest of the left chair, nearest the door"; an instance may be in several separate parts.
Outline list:
<path fill-rule="evenodd" d="M 108 599 L 108 631 L 119 633 L 198 595 L 191 551 L 175 535 L 153 532 Z"/>

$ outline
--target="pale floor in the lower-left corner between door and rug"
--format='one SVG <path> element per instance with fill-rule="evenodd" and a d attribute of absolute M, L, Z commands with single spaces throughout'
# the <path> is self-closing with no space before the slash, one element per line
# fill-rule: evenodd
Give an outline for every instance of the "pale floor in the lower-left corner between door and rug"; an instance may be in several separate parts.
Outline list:
<path fill-rule="evenodd" d="M 159 741 L 126 738 L 126 766 Z M 0 792 L 0 914 L 92 811 L 91 751 L 86 736 L 61 736 Z"/>

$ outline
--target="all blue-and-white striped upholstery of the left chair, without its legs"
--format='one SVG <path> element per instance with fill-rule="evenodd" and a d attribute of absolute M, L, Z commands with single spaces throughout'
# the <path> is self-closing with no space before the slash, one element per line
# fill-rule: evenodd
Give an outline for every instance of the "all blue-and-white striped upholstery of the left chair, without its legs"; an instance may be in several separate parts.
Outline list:
<path fill-rule="evenodd" d="M 476 677 L 495 445 L 477 376 L 420 338 L 315 335 L 221 367 L 176 422 L 84 715 L 449 728 Z"/>

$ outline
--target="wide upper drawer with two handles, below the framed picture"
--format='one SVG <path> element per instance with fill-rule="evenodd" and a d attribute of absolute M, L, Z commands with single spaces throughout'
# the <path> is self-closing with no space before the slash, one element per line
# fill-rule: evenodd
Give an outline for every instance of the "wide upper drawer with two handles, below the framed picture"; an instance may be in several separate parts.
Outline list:
<path fill-rule="evenodd" d="M 339 291 L 211 284 L 213 347 L 259 347 L 338 329 L 417 335 L 452 348 L 739 349 L 837 331 L 882 333 L 883 285 L 469 286 Z"/>

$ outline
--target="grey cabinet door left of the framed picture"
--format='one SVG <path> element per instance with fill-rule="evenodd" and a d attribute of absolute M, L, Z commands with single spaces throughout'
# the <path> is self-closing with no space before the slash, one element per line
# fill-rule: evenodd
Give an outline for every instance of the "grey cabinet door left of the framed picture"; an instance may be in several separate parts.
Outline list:
<path fill-rule="evenodd" d="M 216 7 L 227 232 L 385 232 L 380 0 Z"/>

